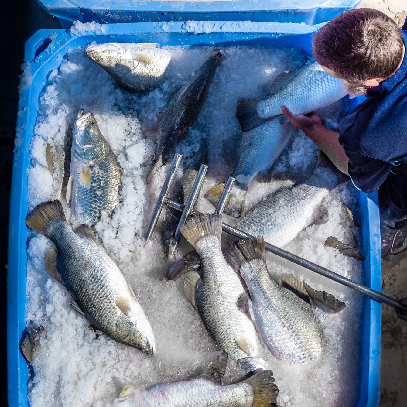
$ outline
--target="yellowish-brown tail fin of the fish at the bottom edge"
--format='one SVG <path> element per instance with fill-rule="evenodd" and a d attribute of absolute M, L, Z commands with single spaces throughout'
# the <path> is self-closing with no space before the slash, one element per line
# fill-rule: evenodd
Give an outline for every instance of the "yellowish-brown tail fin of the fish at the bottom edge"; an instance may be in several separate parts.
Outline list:
<path fill-rule="evenodd" d="M 244 383 L 253 387 L 254 397 L 253 407 L 275 406 L 277 407 L 277 396 L 280 390 L 274 383 L 274 376 L 271 370 L 263 370 L 250 376 Z"/>

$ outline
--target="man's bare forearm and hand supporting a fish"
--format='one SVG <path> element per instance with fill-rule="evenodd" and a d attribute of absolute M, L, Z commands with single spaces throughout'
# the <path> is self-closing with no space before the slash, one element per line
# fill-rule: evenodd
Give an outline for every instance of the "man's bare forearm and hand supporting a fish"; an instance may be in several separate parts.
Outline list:
<path fill-rule="evenodd" d="M 325 127 L 321 118 L 315 113 L 311 113 L 310 116 L 295 116 L 285 106 L 281 106 L 281 111 L 294 127 L 304 131 L 324 151 L 339 171 L 348 175 L 349 159 L 343 147 L 339 144 L 338 133 Z"/>

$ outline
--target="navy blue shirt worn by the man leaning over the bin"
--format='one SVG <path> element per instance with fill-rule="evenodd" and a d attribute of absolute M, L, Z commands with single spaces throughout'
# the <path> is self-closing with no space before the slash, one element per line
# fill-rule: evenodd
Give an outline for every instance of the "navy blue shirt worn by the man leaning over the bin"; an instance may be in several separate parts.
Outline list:
<path fill-rule="evenodd" d="M 403 28 L 407 28 L 407 20 Z M 339 142 L 349 158 L 353 184 L 407 213 L 407 31 L 397 72 L 369 88 L 367 99 L 339 123 Z"/>

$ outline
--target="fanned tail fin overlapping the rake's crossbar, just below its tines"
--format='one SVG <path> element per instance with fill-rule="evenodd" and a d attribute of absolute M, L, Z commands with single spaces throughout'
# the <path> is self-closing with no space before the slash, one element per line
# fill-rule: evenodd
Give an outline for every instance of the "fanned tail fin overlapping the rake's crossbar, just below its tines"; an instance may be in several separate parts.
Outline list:
<path fill-rule="evenodd" d="M 180 230 L 194 247 L 205 236 L 213 235 L 220 240 L 222 234 L 222 215 L 220 213 L 199 214 L 195 218 L 190 218 L 184 225 L 181 225 Z"/>

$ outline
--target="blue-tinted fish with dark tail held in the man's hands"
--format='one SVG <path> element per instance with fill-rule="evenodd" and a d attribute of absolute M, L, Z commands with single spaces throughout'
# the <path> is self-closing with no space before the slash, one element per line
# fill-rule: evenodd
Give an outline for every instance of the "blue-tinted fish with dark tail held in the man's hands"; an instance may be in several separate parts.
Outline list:
<path fill-rule="evenodd" d="M 302 68 L 282 72 L 274 79 L 270 91 L 273 95 L 264 100 L 239 101 L 236 117 L 243 131 L 250 131 L 274 116 L 279 116 L 281 123 L 287 123 L 281 105 L 287 106 L 293 114 L 307 114 L 348 94 L 342 82 L 326 74 L 315 60 Z"/>

